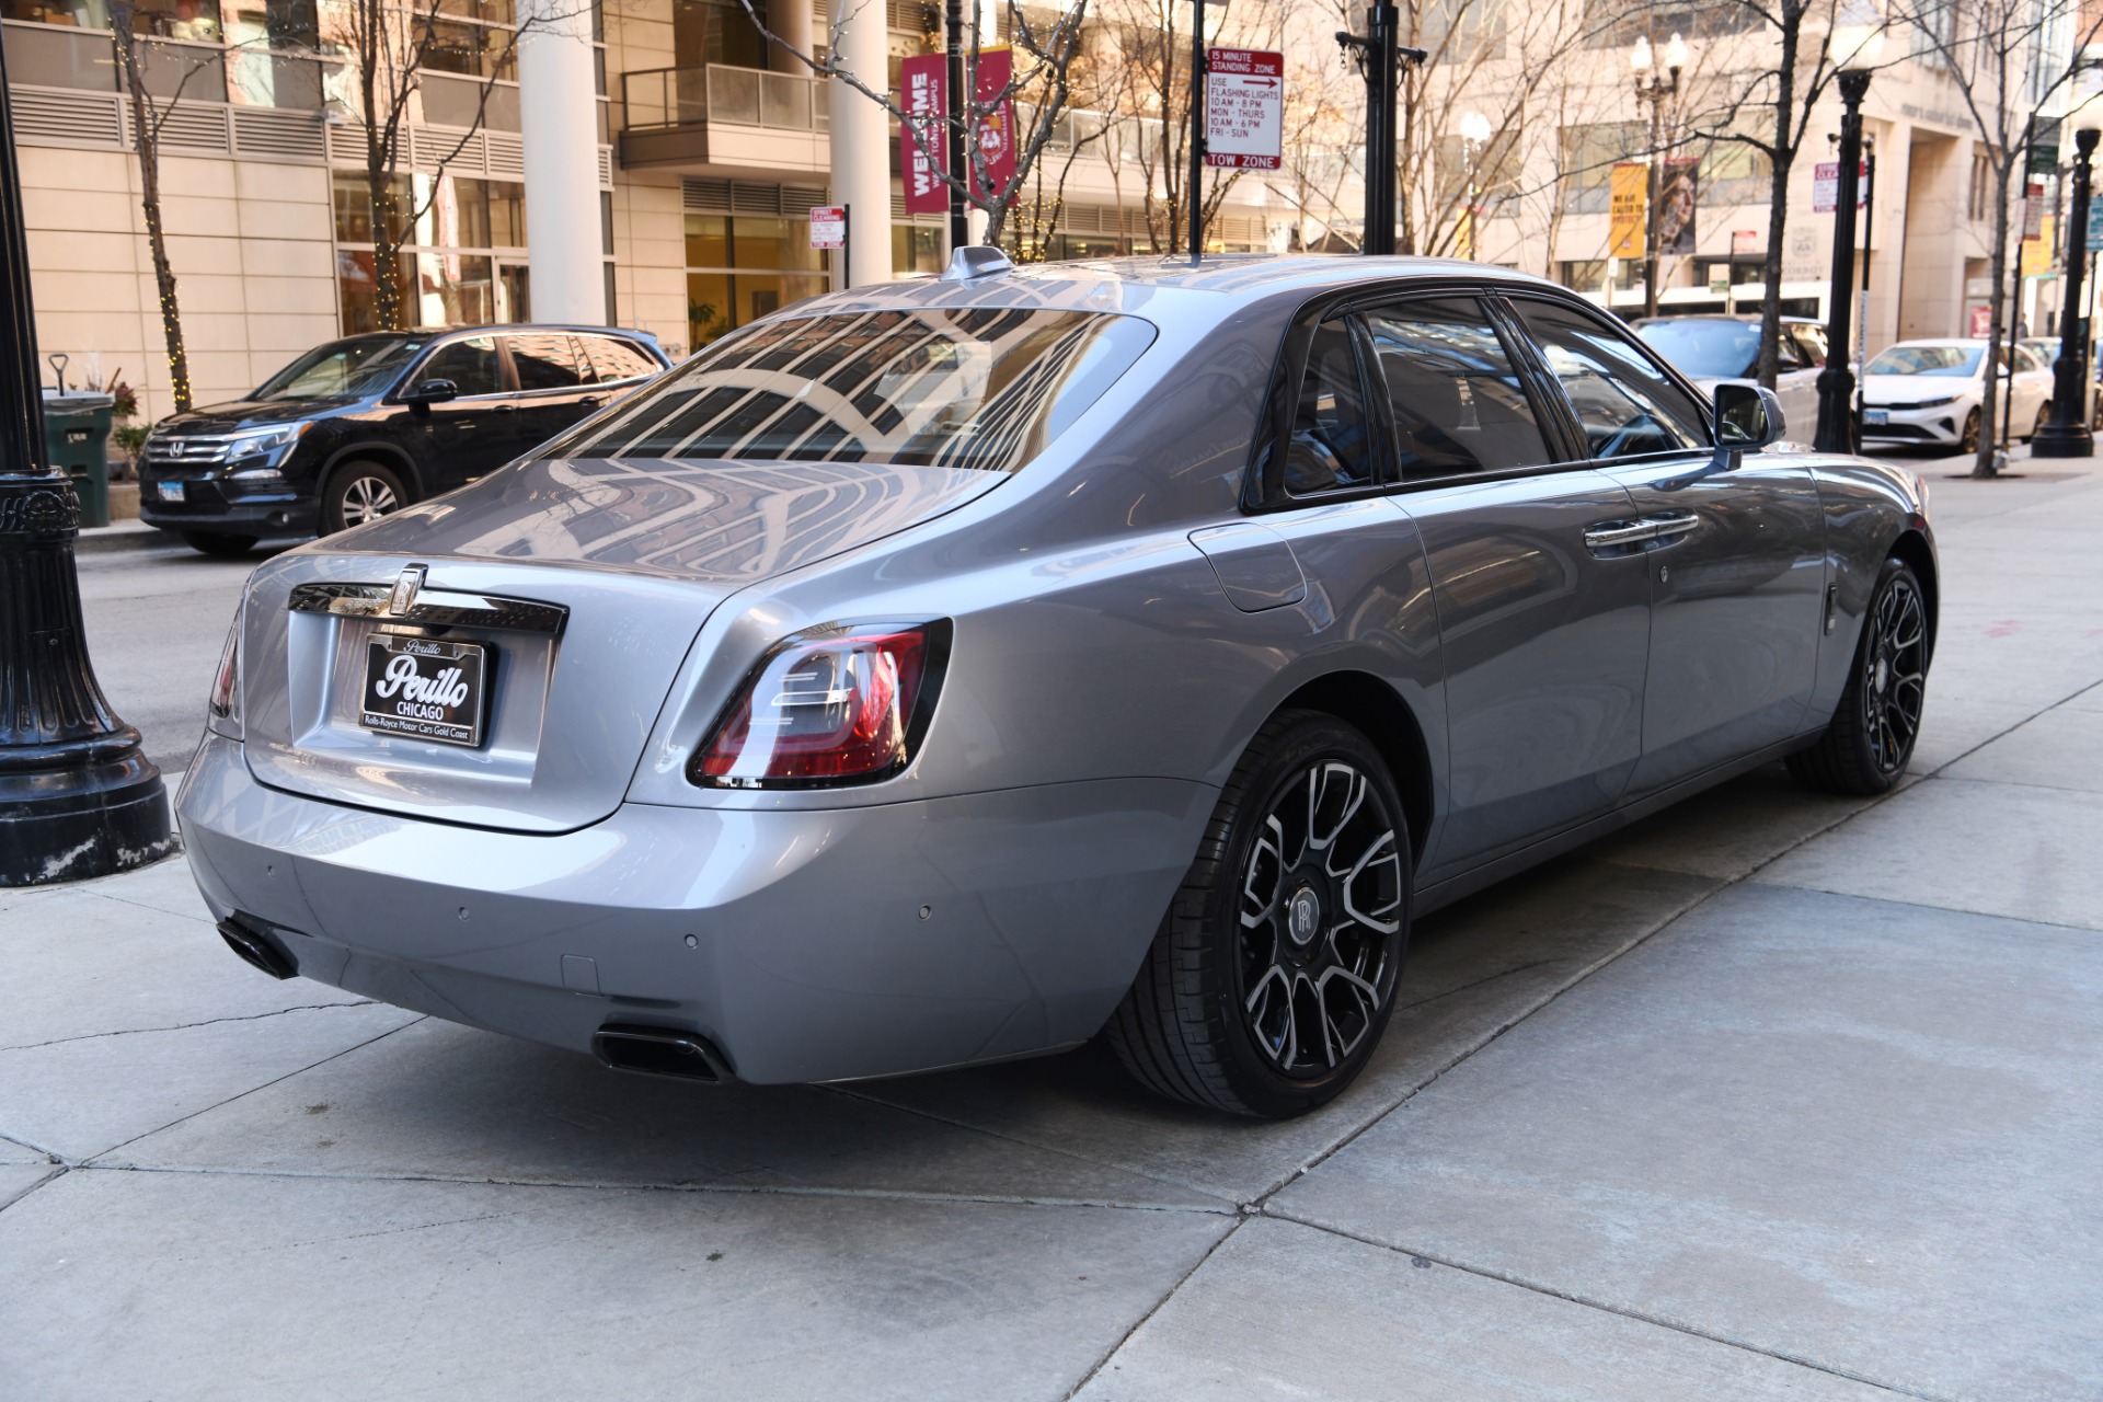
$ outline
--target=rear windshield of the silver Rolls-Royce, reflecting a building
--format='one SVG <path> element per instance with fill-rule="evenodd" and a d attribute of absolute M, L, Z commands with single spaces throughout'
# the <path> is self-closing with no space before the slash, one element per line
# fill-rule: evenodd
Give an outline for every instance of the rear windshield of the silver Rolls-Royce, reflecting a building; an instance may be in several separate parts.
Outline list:
<path fill-rule="evenodd" d="M 763 322 L 551 452 L 1012 473 L 1152 338 L 1138 317 L 1096 311 L 930 307 Z"/>

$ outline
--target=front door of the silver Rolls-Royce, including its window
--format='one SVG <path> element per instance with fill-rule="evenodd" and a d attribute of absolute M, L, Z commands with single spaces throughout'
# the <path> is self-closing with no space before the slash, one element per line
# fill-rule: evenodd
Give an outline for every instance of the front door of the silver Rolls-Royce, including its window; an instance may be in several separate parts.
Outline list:
<path fill-rule="evenodd" d="M 1649 576 L 1642 763 L 1653 792 L 1798 734 L 1817 679 L 1825 521 L 1811 469 L 1718 454 L 1701 401 L 1619 326 L 1514 296 L 1592 462 L 1621 483 Z"/>

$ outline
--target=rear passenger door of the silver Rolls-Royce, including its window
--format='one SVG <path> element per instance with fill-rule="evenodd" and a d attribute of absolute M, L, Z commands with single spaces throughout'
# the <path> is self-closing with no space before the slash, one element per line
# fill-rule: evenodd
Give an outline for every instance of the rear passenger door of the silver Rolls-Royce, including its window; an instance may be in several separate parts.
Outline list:
<path fill-rule="evenodd" d="M 1430 570 L 1449 803 L 1426 877 L 1615 805 L 1642 746 L 1649 586 L 1628 492 L 1541 412 L 1476 294 L 1359 313 L 1386 389 L 1396 488 Z M 1592 544 L 1588 544 L 1588 538 Z"/>

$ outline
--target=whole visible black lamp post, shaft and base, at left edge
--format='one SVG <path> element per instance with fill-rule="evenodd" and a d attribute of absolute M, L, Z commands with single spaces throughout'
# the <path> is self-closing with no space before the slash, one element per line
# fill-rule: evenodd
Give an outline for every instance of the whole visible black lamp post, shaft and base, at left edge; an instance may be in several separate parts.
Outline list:
<path fill-rule="evenodd" d="M 80 502 L 48 467 L 15 111 L 0 55 L 0 887 L 80 881 L 175 851 L 168 795 L 88 666 Z"/>

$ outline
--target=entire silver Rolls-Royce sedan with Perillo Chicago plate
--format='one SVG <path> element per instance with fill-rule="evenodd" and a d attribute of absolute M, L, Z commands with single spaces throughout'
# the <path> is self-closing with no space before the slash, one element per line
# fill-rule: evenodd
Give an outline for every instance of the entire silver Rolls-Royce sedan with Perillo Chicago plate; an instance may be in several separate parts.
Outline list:
<path fill-rule="evenodd" d="M 965 250 L 259 568 L 189 862 L 269 973 L 622 1070 L 1104 1034 L 1289 1116 L 1426 910 L 1899 778 L 1926 494 L 1779 431 L 1518 273 Z"/>

